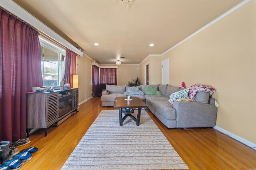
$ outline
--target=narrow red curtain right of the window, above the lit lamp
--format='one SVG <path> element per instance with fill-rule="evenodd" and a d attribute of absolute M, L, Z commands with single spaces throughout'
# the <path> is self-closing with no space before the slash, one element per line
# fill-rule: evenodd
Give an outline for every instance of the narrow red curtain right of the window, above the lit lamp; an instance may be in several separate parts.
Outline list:
<path fill-rule="evenodd" d="M 73 87 L 73 75 L 76 74 L 76 53 L 66 49 L 64 83 L 69 83 Z M 62 81 L 63 81 L 62 80 Z"/>

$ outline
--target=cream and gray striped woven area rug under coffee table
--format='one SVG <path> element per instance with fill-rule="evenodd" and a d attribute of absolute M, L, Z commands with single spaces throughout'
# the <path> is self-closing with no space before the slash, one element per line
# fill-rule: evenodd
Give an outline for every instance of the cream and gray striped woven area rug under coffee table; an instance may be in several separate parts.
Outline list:
<path fill-rule="evenodd" d="M 141 111 L 139 126 L 128 117 L 121 127 L 118 110 L 102 110 L 62 169 L 158 170 L 188 166 L 145 110 Z"/>

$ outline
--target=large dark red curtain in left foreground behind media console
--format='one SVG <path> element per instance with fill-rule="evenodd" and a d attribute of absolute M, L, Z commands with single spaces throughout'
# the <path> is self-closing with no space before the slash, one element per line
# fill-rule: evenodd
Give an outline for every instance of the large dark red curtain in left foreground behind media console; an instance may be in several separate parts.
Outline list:
<path fill-rule="evenodd" d="M 0 141 L 26 136 L 26 92 L 42 86 L 38 34 L 0 9 Z"/>

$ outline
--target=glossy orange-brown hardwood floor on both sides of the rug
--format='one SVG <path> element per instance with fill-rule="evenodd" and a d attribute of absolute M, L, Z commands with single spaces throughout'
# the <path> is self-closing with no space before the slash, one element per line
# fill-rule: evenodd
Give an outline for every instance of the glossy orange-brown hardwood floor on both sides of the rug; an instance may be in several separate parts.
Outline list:
<path fill-rule="evenodd" d="M 60 126 L 48 128 L 47 137 L 43 129 L 30 134 L 31 143 L 18 150 L 32 146 L 39 150 L 21 170 L 61 169 L 102 109 L 114 108 L 103 108 L 100 98 L 92 98 Z M 215 129 L 169 130 L 150 110 L 147 112 L 191 170 L 256 168 L 256 150 Z"/>

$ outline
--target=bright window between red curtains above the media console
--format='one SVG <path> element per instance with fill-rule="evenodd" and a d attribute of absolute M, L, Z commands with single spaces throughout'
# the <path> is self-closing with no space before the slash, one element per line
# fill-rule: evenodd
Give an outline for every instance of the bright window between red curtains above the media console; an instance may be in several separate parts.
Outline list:
<path fill-rule="evenodd" d="M 42 43 L 41 43 L 42 45 Z M 43 86 L 59 86 L 64 66 L 64 55 L 58 50 L 41 46 L 41 70 Z"/>

